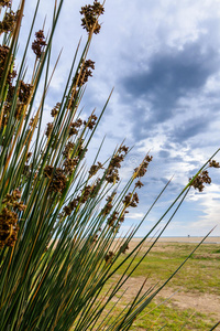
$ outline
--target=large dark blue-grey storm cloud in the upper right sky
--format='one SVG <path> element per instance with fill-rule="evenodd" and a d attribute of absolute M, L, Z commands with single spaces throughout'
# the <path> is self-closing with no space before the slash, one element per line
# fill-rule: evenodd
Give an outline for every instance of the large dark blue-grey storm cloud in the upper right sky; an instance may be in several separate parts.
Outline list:
<path fill-rule="evenodd" d="M 217 51 L 204 51 L 196 43 L 187 44 L 183 51 L 156 54 L 146 65 L 148 70 L 122 79 L 124 89 L 136 98 L 147 96 L 155 108 L 165 108 L 174 106 L 186 93 L 202 87 L 217 70 L 219 56 Z"/>

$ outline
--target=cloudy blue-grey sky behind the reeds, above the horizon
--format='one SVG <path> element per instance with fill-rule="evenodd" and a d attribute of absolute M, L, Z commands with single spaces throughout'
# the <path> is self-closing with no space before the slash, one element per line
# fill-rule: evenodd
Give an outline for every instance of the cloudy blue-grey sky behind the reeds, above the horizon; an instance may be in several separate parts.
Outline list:
<path fill-rule="evenodd" d="M 35 1 L 26 1 L 23 33 Z M 52 0 L 42 1 L 36 30 L 45 32 Z M 54 58 L 63 54 L 45 105 L 45 118 L 68 75 L 79 38 L 80 7 L 65 0 L 56 30 Z M 88 57 L 96 62 L 81 102 L 85 111 L 99 114 L 112 89 L 105 117 L 92 141 L 94 152 L 106 136 L 106 159 L 125 139 L 133 147 L 121 170 L 123 181 L 150 151 L 153 156 L 140 190 L 140 204 L 122 231 L 138 224 L 166 182 L 165 194 L 143 222 L 145 235 L 188 183 L 188 178 L 220 147 L 220 2 L 218 0 L 107 0 L 101 32 L 94 36 Z M 22 47 L 22 43 L 21 43 Z M 33 56 L 33 55 L 32 55 Z M 31 60 L 31 55 L 30 55 Z M 91 151 L 92 154 L 92 151 Z M 215 158 L 220 161 L 220 153 Z M 191 190 L 165 231 L 165 236 L 204 236 L 213 226 L 220 236 L 220 169 L 210 169 L 212 183 L 202 193 Z"/>

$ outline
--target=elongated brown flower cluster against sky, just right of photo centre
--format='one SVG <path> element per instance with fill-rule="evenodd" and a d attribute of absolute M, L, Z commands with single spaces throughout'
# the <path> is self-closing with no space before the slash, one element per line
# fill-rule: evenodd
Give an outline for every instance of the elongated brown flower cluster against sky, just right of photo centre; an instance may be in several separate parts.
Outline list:
<path fill-rule="evenodd" d="M 107 174 L 106 174 L 106 181 L 108 183 L 116 183 L 120 180 L 119 178 L 119 168 L 121 168 L 121 162 L 124 160 L 124 157 L 127 156 L 129 151 L 129 148 L 125 146 L 122 146 L 119 148 L 118 152 L 114 157 L 112 157 Z"/>

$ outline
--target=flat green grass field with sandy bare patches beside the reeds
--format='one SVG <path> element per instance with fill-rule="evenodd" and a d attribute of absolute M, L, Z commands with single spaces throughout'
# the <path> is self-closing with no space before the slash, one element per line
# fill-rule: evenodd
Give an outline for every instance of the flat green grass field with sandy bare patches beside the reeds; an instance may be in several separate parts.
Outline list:
<path fill-rule="evenodd" d="M 220 244 L 202 244 L 187 264 L 140 314 L 131 330 L 210 330 L 220 319 Z M 135 246 L 138 239 L 131 243 Z M 144 244 L 136 263 L 147 249 Z M 195 248 L 195 243 L 161 241 L 132 275 L 118 311 L 147 278 L 145 289 L 169 275 Z M 131 247 L 132 248 L 132 247 Z M 129 261 L 128 261 L 129 263 Z M 120 274 L 124 270 L 121 269 Z M 120 295 L 117 296 L 118 298 Z M 117 298 L 116 298 L 117 300 Z M 113 305 L 113 302 L 112 302 Z M 220 330 L 217 327 L 215 330 Z"/>

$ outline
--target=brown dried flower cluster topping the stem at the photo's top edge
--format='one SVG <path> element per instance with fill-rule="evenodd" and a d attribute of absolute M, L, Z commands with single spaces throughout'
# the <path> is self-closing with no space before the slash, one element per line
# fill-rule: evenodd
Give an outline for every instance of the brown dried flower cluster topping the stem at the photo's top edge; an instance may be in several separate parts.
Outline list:
<path fill-rule="evenodd" d="M 100 32 L 101 25 L 98 23 L 98 18 L 103 14 L 103 6 L 97 0 L 94 4 L 87 4 L 81 7 L 80 14 L 84 15 L 81 19 L 81 26 L 86 29 L 88 33 L 98 34 Z"/>

